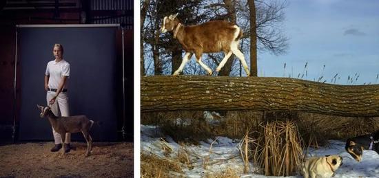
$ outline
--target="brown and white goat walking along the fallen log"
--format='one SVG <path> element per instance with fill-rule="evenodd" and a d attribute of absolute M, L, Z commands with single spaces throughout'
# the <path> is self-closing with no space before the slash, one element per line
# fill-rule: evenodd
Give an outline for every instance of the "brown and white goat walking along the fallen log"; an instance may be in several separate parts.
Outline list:
<path fill-rule="evenodd" d="M 178 14 L 165 16 L 161 32 L 173 32 L 174 38 L 177 38 L 179 43 L 185 50 L 181 66 L 174 72 L 174 76 L 183 71 L 185 63 L 195 54 L 196 60 L 201 67 L 207 70 L 209 75 L 212 75 L 212 69 L 209 69 L 201 61 L 203 53 L 224 52 L 225 57 L 216 68 L 220 71 L 224 67 L 227 59 L 235 54 L 243 65 L 247 76 L 250 75 L 243 53 L 238 49 L 238 44 L 242 36 L 242 30 L 234 23 L 227 21 L 208 21 L 200 25 L 183 25 L 178 18 Z"/>

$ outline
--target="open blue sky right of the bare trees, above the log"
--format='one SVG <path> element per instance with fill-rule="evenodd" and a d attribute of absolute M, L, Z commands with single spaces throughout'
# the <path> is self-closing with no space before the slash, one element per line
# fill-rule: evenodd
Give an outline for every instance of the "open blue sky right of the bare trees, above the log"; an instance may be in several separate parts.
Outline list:
<path fill-rule="evenodd" d="M 330 83 L 338 74 L 336 83 L 347 85 L 357 74 L 353 85 L 379 83 L 379 1 L 289 0 L 283 27 L 287 53 L 258 52 L 258 76 L 296 78 L 308 63 L 307 80 Z"/>

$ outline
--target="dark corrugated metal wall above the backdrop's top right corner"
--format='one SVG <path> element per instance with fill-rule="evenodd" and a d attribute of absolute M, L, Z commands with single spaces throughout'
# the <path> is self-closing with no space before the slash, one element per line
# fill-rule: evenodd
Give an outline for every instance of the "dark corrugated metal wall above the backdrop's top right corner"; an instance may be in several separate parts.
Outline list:
<path fill-rule="evenodd" d="M 127 30 L 133 29 L 133 1 L 132 0 L 91 0 L 91 10 L 119 10 L 114 16 L 93 16 L 95 24 L 120 23 L 125 24 Z"/>

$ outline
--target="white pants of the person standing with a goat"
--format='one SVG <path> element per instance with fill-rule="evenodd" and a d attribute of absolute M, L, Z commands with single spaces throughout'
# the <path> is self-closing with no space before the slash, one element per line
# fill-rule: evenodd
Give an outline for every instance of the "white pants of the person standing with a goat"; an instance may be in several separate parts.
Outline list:
<path fill-rule="evenodd" d="M 55 96 L 54 91 L 48 91 L 46 94 L 46 99 L 48 101 L 48 106 L 50 106 L 49 102 L 50 100 Z M 67 92 L 61 92 L 59 93 L 59 96 L 55 99 L 54 104 L 51 106 L 51 111 L 54 113 L 54 115 L 59 116 L 59 110 L 61 111 L 61 116 L 70 116 L 70 111 L 68 110 L 68 95 Z M 59 109 L 59 110 L 58 110 Z M 52 129 L 52 135 L 54 135 L 54 142 L 55 144 L 61 144 L 62 143 L 62 137 L 61 134 L 54 131 L 54 128 Z M 71 133 L 65 134 L 65 143 L 68 144 L 71 142 Z"/>

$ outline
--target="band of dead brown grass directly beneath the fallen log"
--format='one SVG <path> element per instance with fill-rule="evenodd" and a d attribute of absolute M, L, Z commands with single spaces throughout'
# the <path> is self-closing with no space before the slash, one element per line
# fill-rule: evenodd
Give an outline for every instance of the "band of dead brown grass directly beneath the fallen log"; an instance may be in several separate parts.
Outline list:
<path fill-rule="evenodd" d="M 225 121 L 216 126 L 207 124 L 201 111 L 142 113 L 141 123 L 161 126 L 163 133 L 176 142 L 192 144 L 215 136 L 239 139 L 244 137 L 246 129 L 252 128 L 254 131 L 259 123 L 276 120 L 294 121 L 304 143 L 312 147 L 325 146 L 327 140 L 347 140 L 379 129 L 379 118 L 349 118 L 297 111 L 229 111 L 223 115 Z M 177 118 L 186 118 L 190 123 L 176 123 Z"/>

